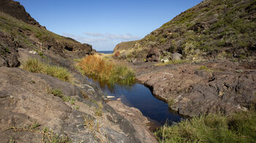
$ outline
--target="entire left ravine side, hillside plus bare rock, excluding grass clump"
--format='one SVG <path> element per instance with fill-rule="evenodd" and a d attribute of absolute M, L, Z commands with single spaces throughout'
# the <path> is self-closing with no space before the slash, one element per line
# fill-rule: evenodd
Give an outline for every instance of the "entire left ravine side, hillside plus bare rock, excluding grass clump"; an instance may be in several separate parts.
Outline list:
<path fill-rule="evenodd" d="M 106 104 L 75 69 L 74 58 L 92 53 L 91 45 L 41 28 L 18 2 L 0 1 L 0 142 L 157 142 L 138 109 Z M 20 69 L 29 58 L 64 67 L 72 83 Z"/>

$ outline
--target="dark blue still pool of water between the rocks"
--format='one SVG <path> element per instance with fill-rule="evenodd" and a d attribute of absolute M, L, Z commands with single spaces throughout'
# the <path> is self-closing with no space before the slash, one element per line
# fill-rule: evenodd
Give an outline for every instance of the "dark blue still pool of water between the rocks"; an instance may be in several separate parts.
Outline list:
<path fill-rule="evenodd" d="M 168 105 L 157 98 L 155 98 L 151 90 L 144 85 L 135 83 L 131 86 L 114 85 L 110 86 L 105 82 L 98 82 L 95 79 L 89 78 L 90 82 L 99 85 L 102 90 L 109 96 L 115 96 L 114 99 L 121 98 L 121 101 L 129 107 L 140 109 L 146 117 L 157 120 L 164 124 L 166 120 L 179 122 L 181 117 L 174 112 L 170 112 Z"/>

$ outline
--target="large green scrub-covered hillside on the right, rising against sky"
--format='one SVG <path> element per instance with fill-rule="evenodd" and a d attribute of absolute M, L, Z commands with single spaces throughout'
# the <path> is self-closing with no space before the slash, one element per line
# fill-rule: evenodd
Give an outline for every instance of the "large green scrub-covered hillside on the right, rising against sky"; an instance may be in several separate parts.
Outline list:
<path fill-rule="evenodd" d="M 152 31 L 125 55 L 143 59 L 157 47 L 159 59 L 172 53 L 194 59 L 246 58 L 255 56 L 255 31 L 255 0 L 205 0 Z"/>

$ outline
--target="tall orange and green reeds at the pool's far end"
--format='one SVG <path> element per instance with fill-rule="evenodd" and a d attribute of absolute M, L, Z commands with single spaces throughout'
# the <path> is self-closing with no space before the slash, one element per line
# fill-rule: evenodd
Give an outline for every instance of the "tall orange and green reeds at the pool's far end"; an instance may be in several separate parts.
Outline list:
<path fill-rule="evenodd" d="M 113 85 L 121 83 L 131 85 L 135 81 L 135 73 L 127 66 L 110 63 L 98 55 L 89 55 L 78 63 L 84 74 L 97 77 Z"/>

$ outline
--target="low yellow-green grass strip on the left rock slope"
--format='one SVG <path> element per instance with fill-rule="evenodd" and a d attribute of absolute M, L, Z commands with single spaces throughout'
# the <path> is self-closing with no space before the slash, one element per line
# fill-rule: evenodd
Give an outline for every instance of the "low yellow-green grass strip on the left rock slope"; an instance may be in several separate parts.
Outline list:
<path fill-rule="evenodd" d="M 48 74 L 64 82 L 71 82 L 71 74 L 67 69 L 60 66 L 50 66 L 48 63 L 42 63 L 36 58 L 29 58 L 23 63 L 23 69 L 35 73 Z"/>

